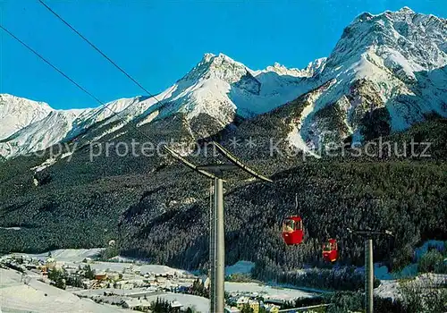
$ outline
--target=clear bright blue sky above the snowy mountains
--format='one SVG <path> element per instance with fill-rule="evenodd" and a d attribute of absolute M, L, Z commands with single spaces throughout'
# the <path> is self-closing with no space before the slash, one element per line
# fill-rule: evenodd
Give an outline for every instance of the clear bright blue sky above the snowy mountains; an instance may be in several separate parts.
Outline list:
<path fill-rule="evenodd" d="M 124 1 L 46 0 L 66 21 L 156 94 L 207 52 L 262 69 L 305 67 L 331 53 L 359 13 L 396 11 L 446 18 L 445 0 Z M 144 92 L 37 0 L 0 0 L 0 22 L 96 97 L 107 102 Z M 0 30 L 0 93 L 58 109 L 97 106 L 46 63 Z"/>

